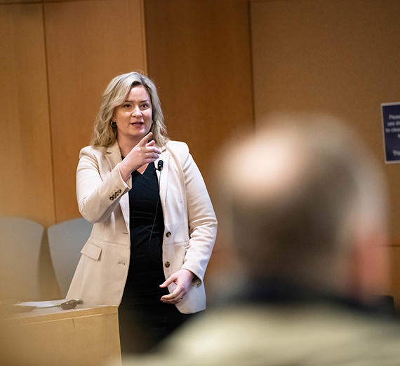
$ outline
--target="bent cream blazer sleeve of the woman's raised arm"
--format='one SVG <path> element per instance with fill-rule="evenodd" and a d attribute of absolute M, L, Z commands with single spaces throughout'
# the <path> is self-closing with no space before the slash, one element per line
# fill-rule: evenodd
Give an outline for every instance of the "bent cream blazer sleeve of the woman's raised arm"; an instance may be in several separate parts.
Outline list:
<path fill-rule="evenodd" d="M 118 207 L 119 200 L 131 189 L 131 178 L 124 182 L 118 166 L 111 172 L 100 150 L 84 147 L 76 170 L 76 198 L 79 212 L 89 222 L 104 222 Z"/>

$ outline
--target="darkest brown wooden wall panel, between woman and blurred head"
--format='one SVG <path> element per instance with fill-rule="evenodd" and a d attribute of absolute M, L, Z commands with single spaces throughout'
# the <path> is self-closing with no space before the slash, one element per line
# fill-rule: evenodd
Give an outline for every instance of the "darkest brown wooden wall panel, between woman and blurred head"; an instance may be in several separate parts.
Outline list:
<path fill-rule="evenodd" d="M 149 76 L 159 88 L 168 133 L 187 142 L 210 189 L 223 142 L 236 130 L 253 130 L 248 2 L 145 0 L 145 20 Z M 233 263 L 218 237 L 208 293 Z"/>

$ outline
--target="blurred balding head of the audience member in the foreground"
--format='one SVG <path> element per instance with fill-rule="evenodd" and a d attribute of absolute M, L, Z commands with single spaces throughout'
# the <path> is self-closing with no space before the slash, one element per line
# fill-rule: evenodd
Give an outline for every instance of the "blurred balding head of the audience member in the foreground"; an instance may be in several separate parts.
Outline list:
<path fill-rule="evenodd" d="M 328 118 L 269 121 L 233 142 L 222 215 L 248 272 L 329 287 L 349 275 L 357 236 L 385 227 L 385 185 L 351 131 Z M 222 219 L 222 217 L 221 217 Z"/>

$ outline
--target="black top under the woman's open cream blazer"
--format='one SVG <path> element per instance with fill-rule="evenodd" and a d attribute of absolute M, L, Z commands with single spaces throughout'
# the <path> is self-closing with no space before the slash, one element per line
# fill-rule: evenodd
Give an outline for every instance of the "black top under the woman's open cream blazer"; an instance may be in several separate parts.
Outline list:
<path fill-rule="evenodd" d="M 143 174 L 132 172 L 129 191 L 131 263 L 123 306 L 159 303 L 168 294 L 159 285 L 165 281 L 162 264 L 164 217 L 159 198 L 159 182 L 154 163 Z"/>

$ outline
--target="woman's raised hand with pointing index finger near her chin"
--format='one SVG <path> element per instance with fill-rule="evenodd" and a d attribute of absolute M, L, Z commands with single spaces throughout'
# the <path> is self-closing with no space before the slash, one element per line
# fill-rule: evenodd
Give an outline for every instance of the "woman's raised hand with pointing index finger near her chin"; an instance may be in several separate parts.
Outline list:
<path fill-rule="evenodd" d="M 154 141 L 149 141 L 153 133 L 148 133 L 140 142 L 125 156 L 124 160 L 118 164 L 121 177 L 126 182 L 134 170 L 138 170 L 141 166 L 153 163 L 159 158 L 161 149 L 154 146 Z"/>

